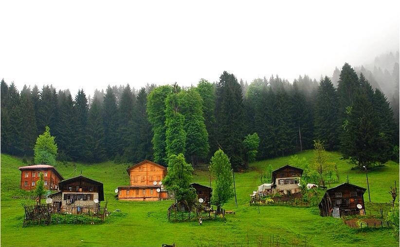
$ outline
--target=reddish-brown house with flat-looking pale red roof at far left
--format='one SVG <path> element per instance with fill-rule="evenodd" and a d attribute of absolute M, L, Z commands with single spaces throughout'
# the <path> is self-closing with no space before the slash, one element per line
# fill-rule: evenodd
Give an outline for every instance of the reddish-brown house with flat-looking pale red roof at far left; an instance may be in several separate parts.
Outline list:
<path fill-rule="evenodd" d="M 50 165 L 32 165 L 19 167 L 21 171 L 20 188 L 22 190 L 34 190 L 40 180 L 39 174 L 43 173 L 44 187 L 47 190 L 58 190 L 58 182 L 64 180 L 63 176 Z"/>

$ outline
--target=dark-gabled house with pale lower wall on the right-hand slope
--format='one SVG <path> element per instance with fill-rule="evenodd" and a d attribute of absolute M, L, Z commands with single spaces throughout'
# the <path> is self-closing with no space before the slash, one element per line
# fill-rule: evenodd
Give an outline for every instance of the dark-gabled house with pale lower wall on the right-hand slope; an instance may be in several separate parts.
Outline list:
<path fill-rule="evenodd" d="M 288 194 L 300 192 L 300 178 L 303 169 L 286 165 L 272 172 L 273 193 Z"/>

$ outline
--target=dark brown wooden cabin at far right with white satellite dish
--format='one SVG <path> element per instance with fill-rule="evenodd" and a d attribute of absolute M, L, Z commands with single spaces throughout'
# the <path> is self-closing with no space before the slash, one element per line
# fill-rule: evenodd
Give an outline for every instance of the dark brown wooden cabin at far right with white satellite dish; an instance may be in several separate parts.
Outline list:
<path fill-rule="evenodd" d="M 318 204 L 321 216 L 339 218 L 342 215 L 365 214 L 364 188 L 343 183 L 330 188 Z M 357 207 L 357 205 L 360 205 Z"/>

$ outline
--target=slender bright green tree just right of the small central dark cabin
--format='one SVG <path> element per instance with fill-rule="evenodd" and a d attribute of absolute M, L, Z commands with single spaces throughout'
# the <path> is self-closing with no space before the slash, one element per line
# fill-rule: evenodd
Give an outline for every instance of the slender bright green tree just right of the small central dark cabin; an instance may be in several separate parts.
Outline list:
<path fill-rule="evenodd" d="M 211 157 L 210 172 L 214 177 L 211 203 L 217 206 L 217 213 L 235 196 L 233 188 L 232 165 L 228 155 L 218 149 Z"/>

